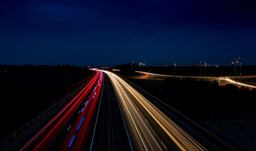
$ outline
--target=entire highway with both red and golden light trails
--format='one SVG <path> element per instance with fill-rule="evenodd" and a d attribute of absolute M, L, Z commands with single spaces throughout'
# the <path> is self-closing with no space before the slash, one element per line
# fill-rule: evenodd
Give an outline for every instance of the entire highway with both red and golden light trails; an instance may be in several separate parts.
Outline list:
<path fill-rule="evenodd" d="M 96 70 L 65 102 L 0 149 L 206 150 L 170 118 L 176 117 L 116 74 Z"/>

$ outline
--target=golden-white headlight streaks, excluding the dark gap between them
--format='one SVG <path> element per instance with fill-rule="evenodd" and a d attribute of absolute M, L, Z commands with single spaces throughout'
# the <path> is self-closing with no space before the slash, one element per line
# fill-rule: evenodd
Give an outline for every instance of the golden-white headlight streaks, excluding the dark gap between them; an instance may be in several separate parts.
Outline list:
<path fill-rule="evenodd" d="M 206 150 L 124 80 L 112 72 L 101 71 L 110 77 L 117 92 L 119 103 L 127 115 L 127 121 L 130 122 L 131 129 L 141 150 L 164 150 L 166 147 L 137 108 L 135 102 L 138 102 L 145 109 L 181 150 Z"/>

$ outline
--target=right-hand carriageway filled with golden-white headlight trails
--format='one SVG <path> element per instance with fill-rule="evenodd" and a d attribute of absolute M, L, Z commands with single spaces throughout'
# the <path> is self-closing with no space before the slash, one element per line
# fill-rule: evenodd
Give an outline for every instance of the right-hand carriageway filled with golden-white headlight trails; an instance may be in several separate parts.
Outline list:
<path fill-rule="evenodd" d="M 206 150 L 179 125 L 116 74 L 108 75 L 134 150 Z"/>

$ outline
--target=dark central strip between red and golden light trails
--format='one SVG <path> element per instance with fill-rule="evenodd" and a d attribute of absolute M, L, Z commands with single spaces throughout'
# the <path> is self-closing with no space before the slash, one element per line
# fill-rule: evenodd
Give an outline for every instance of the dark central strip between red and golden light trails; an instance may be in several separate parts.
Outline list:
<path fill-rule="evenodd" d="M 108 75 L 103 77 L 102 99 L 91 150 L 131 150 L 112 83 Z"/>

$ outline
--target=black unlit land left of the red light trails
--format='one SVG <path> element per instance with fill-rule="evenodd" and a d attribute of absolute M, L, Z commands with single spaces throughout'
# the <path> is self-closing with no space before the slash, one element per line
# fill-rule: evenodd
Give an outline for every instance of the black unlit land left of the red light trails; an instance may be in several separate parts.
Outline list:
<path fill-rule="evenodd" d="M 0 66 L 2 131 L 0 139 L 17 130 L 93 73 L 81 67 Z M 73 87 L 73 88 L 72 88 Z"/>

